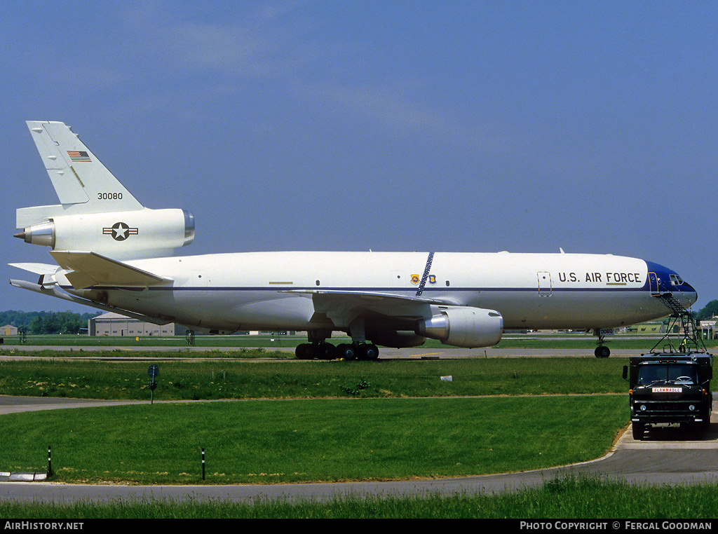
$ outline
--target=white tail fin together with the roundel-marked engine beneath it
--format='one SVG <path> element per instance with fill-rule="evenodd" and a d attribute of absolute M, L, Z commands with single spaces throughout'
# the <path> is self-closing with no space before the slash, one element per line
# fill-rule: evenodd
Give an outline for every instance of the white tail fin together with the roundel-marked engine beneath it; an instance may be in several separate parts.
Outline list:
<path fill-rule="evenodd" d="M 61 203 L 17 210 L 15 228 L 23 231 L 16 238 L 57 253 L 88 250 L 116 260 L 172 256 L 174 248 L 192 243 L 190 212 L 141 205 L 65 123 L 27 121 L 27 126 Z M 93 268 L 109 268 L 90 257 L 83 268 L 90 260 Z"/>

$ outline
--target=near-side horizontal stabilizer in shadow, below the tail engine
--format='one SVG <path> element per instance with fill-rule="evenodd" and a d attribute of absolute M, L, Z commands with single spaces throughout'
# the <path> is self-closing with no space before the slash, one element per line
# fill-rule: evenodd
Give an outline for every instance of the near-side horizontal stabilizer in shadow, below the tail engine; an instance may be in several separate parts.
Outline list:
<path fill-rule="evenodd" d="M 172 282 L 171 278 L 148 273 L 94 252 L 58 250 L 51 251 L 50 255 L 60 267 L 71 271 L 65 274 L 65 278 L 73 284 L 74 289 L 90 286 L 147 287 Z"/>

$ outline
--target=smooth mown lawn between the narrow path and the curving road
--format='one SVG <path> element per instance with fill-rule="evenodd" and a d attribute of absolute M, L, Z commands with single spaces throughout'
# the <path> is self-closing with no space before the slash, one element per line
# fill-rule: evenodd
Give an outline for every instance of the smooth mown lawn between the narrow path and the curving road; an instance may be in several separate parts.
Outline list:
<path fill-rule="evenodd" d="M 613 395 L 113 406 L 4 416 L 0 465 L 51 444 L 57 482 L 198 484 L 204 448 L 213 484 L 455 477 L 593 459 L 626 421 Z"/>

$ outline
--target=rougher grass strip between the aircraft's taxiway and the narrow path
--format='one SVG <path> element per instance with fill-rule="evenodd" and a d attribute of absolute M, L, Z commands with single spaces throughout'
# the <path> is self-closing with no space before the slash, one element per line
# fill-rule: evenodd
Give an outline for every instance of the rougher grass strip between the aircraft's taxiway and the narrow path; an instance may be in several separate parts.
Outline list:
<path fill-rule="evenodd" d="M 0 394 L 149 399 L 149 364 L 112 360 L 0 361 Z M 154 354 L 151 356 L 155 356 Z M 626 393 L 627 358 L 159 362 L 157 400 L 438 397 Z M 452 381 L 441 380 L 441 377 Z"/>

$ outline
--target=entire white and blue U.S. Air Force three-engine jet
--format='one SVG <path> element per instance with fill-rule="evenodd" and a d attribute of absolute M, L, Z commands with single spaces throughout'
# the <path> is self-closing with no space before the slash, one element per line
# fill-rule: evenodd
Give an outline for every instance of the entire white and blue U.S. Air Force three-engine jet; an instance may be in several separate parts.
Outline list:
<path fill-rule="evenodd" d="M 377 345 L 426 338 L 490 347 L 504 329 L 603 334 L 684 311 L 696 291 L 675 272 L 597 254 L 254 252 L 175 257 L 195 237 L 185 210 L 141 205 L 60 122 L 28 121 L 59 205 L 17 210 L 15 237 L 50 247 L 57 265 L 13 286 L 198 332 L 300 330 L 297 357 L 373 360 Z M 335 347 L 332 332 L 352 343 Z"/>

